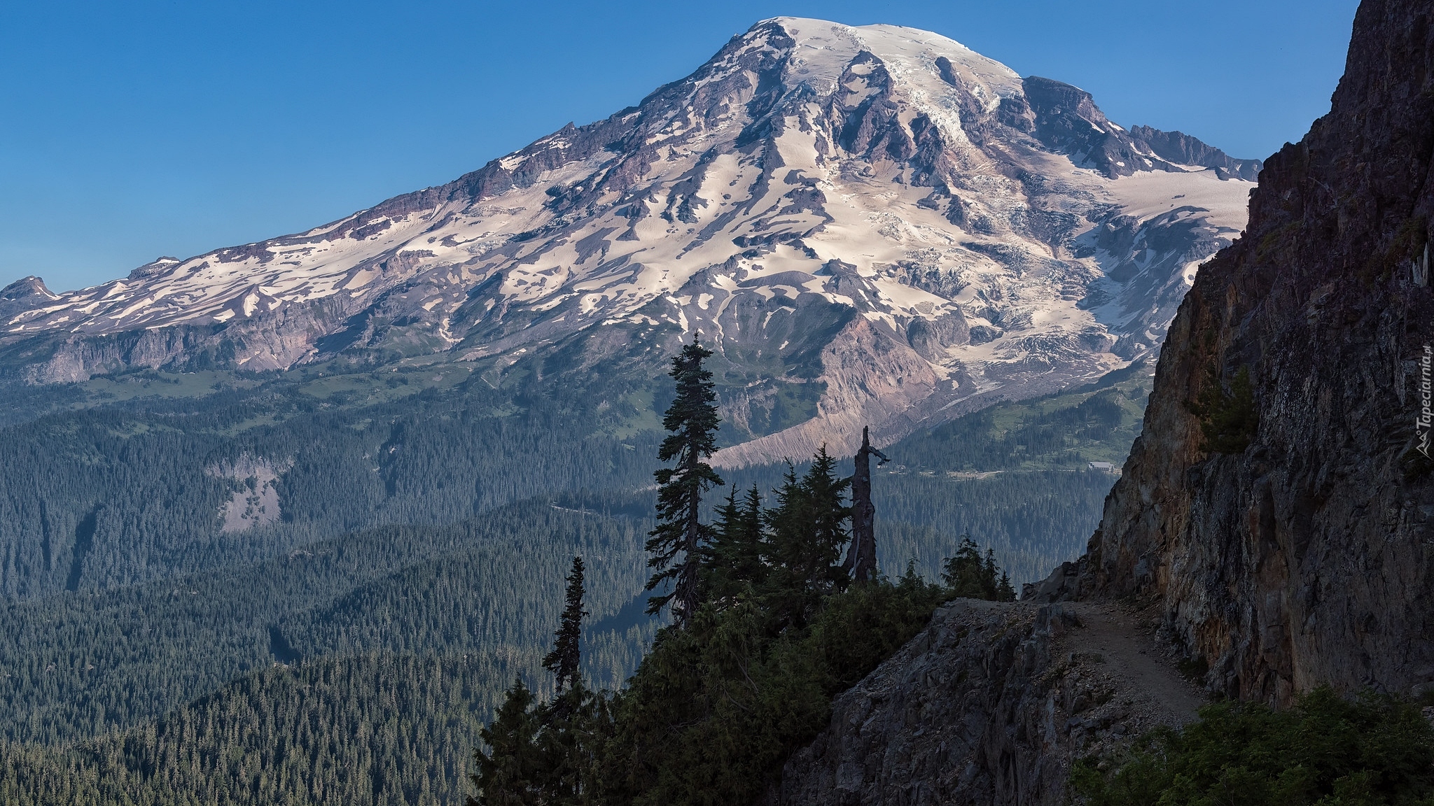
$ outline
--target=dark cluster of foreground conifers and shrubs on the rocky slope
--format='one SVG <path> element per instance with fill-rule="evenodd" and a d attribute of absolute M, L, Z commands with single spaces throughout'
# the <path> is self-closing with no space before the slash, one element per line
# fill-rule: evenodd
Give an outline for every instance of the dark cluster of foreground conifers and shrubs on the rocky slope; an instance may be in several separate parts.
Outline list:
<path fill-rule="evenodd" d="M 658 457 L 674 466 L 655 473 L 647 588 L 670 582 L 648 610 L 670 610 L 671 625 L 625 688 L 585 687 L 575 558 L 546 664 L 558 693 L 543 701 L 515 680 L 475 752 L 472 805 L 753 803 L 826 724 L 832 697 L 891 657 L 939 602 L 1015 598 L 994 555 L 982 558 L 969 538 L 945 564 L 946 587 L 922 579 L 915 564 L 895 584 L 853 575 L 862 542 L 852 512 L 869 490 L 847 506 L 852 479 L 837 476 L 825 447 L 800 478 L 789 466 L 769 506 L 756 486 L 740 503 L 731 490 L 704 523 L 700 499 L 723 483 L 706 462 L 718 422 L 703 369 L 710 356 L 694 340 L 673 360 L 677 396 L 663 420 L 670 435 Z M 869 460 L 868 450 L 858 457 Z"/>

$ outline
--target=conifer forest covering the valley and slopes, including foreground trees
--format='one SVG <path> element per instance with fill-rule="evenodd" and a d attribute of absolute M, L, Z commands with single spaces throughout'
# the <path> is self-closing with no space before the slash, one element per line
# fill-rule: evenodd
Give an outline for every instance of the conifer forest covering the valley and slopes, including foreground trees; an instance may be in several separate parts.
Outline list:
<path fill-rule="evenodd" d="M 885 577 L 862 587 L 842 566 L 850 456 L 713 470 L 724 483 L 697 485 L 695 544 L 677 518 L 690 501 L 658 508 L 654 472 L 684 478 L 680 446 L 660 459 L 678 386 L 326 364 L 23 389 L 0 439 L 0 802 L 459 803 L 478 795 L 473 750 L 492 747 L 480 731 L 515 680 L 525 719 L 568 701 L 562 720 L 605 720 L 602 769 L 619 750 L 647 759 L 635 777 L 582 773 L 622 797 L 708 779 L 746 797 L 835 693 L 955 595 L 942 574 L 971 554 L 964 536 L 978 577 L 998 565 L 1012 588 L 1078 554 L 1114 480 L 1087 463 L 1129 449 L 1149 377 L 883 447 L 870 486 Z M 543 660 L 575 556 L 579 674 L 554 700 Z M 684 574 L 697 598 L 663 631 L 674 605 L 651 602 Z M 782 694 L 734 684 L 747 677 Z M 673 703 L 642 704 L 664 691 L 700 708 L 680 741 L 648 720 Z M 739 733 L 761 737 L 723 763 L 744 777 L 691 763 Z"/>

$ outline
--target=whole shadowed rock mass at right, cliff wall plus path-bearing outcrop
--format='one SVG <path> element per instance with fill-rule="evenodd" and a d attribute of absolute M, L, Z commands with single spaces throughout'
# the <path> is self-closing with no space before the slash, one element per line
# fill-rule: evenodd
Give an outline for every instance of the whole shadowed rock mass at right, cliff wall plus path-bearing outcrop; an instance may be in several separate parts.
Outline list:
<path fill-rule="evenodd" d="M 1265 163 L 1180 305 L 1087 555 L 1015 605 L 938 612 L 770 802 L 1064 803 L 1070 760 L 1131 713 L 1195 710 L 1177 658 L 1276 704 L 1434 687 L 1431 17 L 1359 7 L 1331 113 Z"/>

